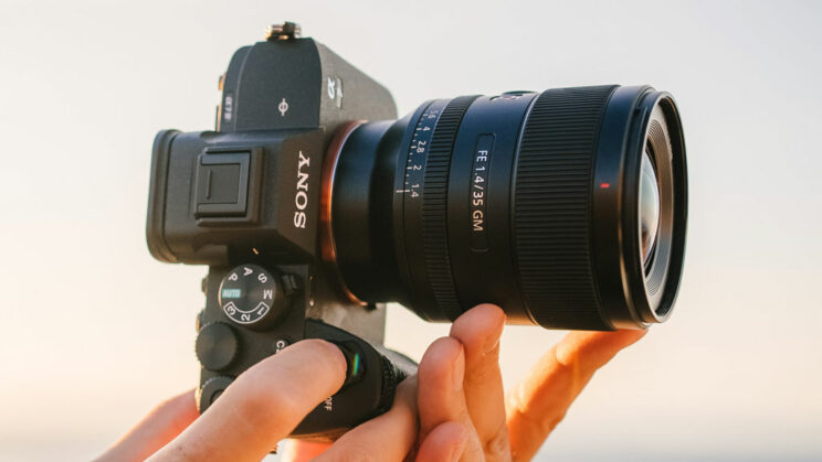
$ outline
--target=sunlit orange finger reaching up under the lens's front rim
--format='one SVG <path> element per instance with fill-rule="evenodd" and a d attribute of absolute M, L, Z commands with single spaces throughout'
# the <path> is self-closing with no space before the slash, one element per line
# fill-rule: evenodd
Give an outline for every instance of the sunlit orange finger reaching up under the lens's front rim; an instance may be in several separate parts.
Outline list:
<path fill-rule="evenodd" d="M 571 332 L 546 353 L 506 400 L 514 460 L 530 460 L 593 373 L 645 331 Z"/>

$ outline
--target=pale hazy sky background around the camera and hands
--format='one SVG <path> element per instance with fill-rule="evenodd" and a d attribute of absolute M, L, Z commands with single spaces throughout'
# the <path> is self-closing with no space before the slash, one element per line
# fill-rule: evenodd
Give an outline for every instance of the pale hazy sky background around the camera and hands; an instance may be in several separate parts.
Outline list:
<path fill-rule="evenodd" d="M 198 383 L 205 269 L 145 244 L 150 148 L 295 20 L 425 99 L 651 84 L 679 105 L 691 221 L 672 319 L 600 372 L 540 460 L 822 459 L 816 2 L 0 0 L 0 459 L 85 460 Z M 419 358 L 446 332 L 390 308 Z M 514 384 L 562 335 L 508 329 Z"/>

